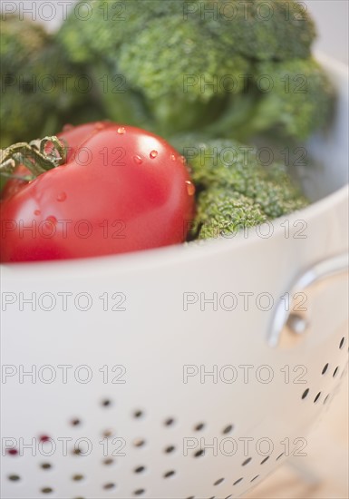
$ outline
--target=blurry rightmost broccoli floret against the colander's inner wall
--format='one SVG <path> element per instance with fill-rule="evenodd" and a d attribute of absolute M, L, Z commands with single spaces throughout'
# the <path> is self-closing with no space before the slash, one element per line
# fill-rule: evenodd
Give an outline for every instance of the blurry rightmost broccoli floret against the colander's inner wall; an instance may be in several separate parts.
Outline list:
<path fill-rule="evenodd" d="M 284 142 L 305 141 L 331 123 L 334 101 L 334 87 L 313 58 L 258 63 L 247 92 L 233 96 L 203 132 L 241 142 L 271 132 Z"/>

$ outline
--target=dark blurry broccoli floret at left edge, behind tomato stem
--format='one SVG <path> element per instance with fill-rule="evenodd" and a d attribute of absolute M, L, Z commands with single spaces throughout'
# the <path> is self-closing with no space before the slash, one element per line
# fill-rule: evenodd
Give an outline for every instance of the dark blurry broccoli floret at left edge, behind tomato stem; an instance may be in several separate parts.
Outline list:
<path fill-rule="evenodd" d="M 9 15 L 1 20 L 1 146 L 56 132 L 60 114 L 88 101 L 79 71 L 40 24 Z"/>

